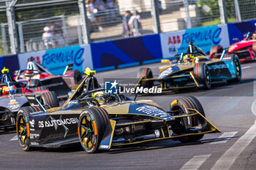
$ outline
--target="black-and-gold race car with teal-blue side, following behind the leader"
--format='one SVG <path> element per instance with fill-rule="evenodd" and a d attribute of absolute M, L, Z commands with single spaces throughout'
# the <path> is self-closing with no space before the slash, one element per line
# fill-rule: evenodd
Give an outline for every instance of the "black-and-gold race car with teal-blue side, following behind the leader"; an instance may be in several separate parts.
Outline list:
<path fill-rule="evenodd" d="M 135 87 L 162 90 L 176 90 L 181 88 L 211 88 L 211 82 L 241 80 L 241 63 L 236 54 L 225 55 L 221 60 L 211 59 L 198 47 L 189 42 L 186 53 L 176 55 L 177 63 L 169 62 L 159 67 L 159 76 L 153 77 L 149 68 L 142 68 L 137 74 L 138 85 Z"/>

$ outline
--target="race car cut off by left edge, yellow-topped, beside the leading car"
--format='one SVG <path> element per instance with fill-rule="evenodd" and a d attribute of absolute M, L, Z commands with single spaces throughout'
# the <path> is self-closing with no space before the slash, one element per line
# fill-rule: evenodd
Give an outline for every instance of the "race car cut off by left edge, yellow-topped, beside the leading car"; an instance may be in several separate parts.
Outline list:
<path fill-rule="evenodd" d="M 26 94 L 34 94 L 42 104 L 47 107 L 58 107 L 59 101 L 56 93 L 48 89 L 29 88 L 22 82 L 16 82 L 8 69 L 1 70 L 0 77 L 0 128 L 9 128 L 15 126 L 15 117 L 18 110 L 22 107 L 30 106 Z"/>

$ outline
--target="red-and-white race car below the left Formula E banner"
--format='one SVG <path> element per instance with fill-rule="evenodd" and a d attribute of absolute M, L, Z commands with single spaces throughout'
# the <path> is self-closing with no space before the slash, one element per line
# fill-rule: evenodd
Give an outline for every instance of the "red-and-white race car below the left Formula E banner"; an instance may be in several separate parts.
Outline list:
<path fill-rule="evenodd" d="M 53 75 L 48 69 L 35 62 L 31 57 L 27 69 L 15 71 L 15 80 L 35 87 L 46 86 L 50 91 L 55 91 L 58 96 L 66 95 L 71 88 L 82 80 L 78 70 L 72 70 L 73 63 L 69 63 L 63 75 Z"/>

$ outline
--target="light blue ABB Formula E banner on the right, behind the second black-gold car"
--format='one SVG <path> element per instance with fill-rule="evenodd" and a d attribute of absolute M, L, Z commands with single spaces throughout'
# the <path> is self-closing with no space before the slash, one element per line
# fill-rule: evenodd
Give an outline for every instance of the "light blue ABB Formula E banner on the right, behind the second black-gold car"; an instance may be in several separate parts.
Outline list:
<path fill-rule="evenodd" d="M 160 34 L 162 45 L 162 58 L 170 58 L 176 54 L 186 53 L 188 42 L 200 47 L 204 52 L 211 50 L 214 45 L 229 47 L 227 25 L 206 26 L 173 31 Z"/>

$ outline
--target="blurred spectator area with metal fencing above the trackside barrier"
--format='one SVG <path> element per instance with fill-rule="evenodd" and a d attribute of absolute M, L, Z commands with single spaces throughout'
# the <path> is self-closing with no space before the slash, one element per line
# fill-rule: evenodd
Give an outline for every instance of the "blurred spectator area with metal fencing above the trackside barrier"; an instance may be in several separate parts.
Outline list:
<path fill-rule="evenodd" d="M 0 55 L 159 33 L 154 17 L 170 32 L 255 19 L 255 9 L 255 0 L 0 0 Z"/>

